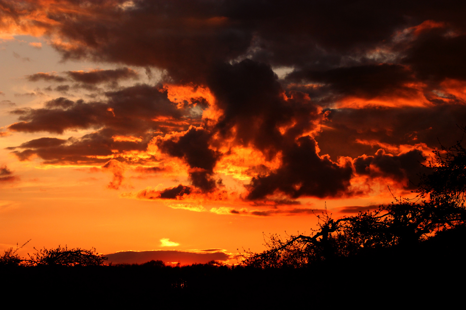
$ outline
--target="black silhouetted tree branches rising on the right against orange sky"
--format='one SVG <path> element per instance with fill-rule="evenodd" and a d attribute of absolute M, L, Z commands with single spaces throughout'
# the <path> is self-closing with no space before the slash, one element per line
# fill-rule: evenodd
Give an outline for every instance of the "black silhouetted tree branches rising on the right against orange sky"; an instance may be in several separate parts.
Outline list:
<path fill-rule="evenodd" d="M 465 127 L 460 127 L 466 132 Z M 260 268 L 303 267 L 316 261 L 348 257 L 368 249 L 409 247 L 439 231 L 465 224 L 466 149 L 456 145 L 432 151 L 424 165 L 430 173 L 420 175 L 413 199 L 395 198 L 378 210 L 333 219 L 317 216 L 319 229 L 313 235 L 273 234 L 262 253 L 246 251 L 243 262 Z M 422 164 L 421 164 L 422 165 Z M 414 201 L 415 200 L 415 201 Z M 414 201 L 414 202 L 413 202 Z"/>

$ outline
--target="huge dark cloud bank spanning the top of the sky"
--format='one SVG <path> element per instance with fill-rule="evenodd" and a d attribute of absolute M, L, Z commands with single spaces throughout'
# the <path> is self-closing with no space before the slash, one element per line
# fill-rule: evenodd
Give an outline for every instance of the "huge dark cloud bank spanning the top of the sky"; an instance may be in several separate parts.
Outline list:
<path fill-rule="evenodd" d="M 386 44 L 396 31 L 425 20 L 466 26 L 461 1 L 140 0 L 126 8 L 123 0 L 63 0 L 54 7 L 24 2 L 4 0 L 1 13 L 24 20 L 47 8 L 54 22 L 35 24 L 71 42 L 54 43 L 65 59 L 156 66 L 188 82 L 203 81 L 212 66 L 244 55 L 311 70 L 336 68 L 348 59 L 377 64 L 365 52 Z"/>

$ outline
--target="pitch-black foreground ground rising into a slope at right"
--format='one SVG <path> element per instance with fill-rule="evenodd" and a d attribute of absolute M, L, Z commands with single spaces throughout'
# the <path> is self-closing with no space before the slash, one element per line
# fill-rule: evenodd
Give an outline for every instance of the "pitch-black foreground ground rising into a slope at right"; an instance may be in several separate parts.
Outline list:
<path fill-rule="evenodd" d="M 464 306 L 466 230 L 306 269 L 196 264 L 0 268 L 2 302 L 51 308 Z M 54 306 L 55 304 L 55 306 Z M 450 307 L 449 306 L 449 307 Z"/>

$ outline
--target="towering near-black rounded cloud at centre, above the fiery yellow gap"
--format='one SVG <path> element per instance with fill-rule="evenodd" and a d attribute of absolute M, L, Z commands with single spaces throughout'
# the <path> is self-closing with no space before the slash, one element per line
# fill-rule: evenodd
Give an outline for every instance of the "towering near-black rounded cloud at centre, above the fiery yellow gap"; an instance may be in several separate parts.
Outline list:
<path fill-rule="evenodd" d="M 235 138 L 243 145 L 261 151 L 280 145 L 277 125 L 284 125 L 293 111 L 280 98 L 283 90 L 269 66 L 249 59 L 225 64 L 213 73 L 209 87 L 224 110 L 217 124 L 223 136 L 235 126 Z"/>

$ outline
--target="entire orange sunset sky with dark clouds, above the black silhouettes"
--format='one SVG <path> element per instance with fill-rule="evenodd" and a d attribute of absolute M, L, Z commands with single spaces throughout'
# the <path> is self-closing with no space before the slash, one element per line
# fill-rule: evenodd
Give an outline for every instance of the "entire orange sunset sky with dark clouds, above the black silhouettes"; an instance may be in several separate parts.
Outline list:
<path fill-rule="evenodd" d="M 338 218 L 394 201 L 387 185 L 414 197 L 466 125 L 465 12 L 0 0 L 0 251 L 234 259 L 310 233 L 325 202 Z"/>

